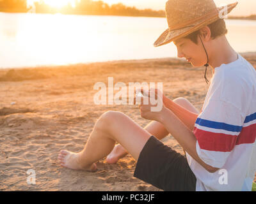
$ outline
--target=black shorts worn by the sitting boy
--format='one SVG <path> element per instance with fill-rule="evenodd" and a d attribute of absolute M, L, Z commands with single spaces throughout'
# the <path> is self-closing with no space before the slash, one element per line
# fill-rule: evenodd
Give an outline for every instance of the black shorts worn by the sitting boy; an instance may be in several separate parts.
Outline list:
<path fill-rule="evenodd" d="M 164 191 L 195 191 L 196 177 L 185 156 L 151 136 L 140 152 L 134 177 Z"/>

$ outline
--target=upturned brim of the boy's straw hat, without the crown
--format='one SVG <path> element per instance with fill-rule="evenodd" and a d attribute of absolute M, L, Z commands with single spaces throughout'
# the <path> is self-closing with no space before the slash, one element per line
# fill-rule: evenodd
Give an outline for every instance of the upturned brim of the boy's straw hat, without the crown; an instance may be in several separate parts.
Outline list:
<path fill-rule="evenodd" d="M 230 13 L 237 5 L 236 3 L 228 4 L 227 5 L 227 14 Z M 212 22 L 215 22 L 216 20 L 220 19 L 220 12 L 223 10 L 223 7 L 217 8 L 219 13 L 215 16 L 211 16 L 210 18 L 204 18 L 204 20 L 200 20 L 196 22 L 195 24 L 191 25 L 190 27 L 185 27 L 182 29 L 177 29 L 174 31 L 169 31 L 169 29 L 166 29 L 159 38 L 154 43 L 154 47 L 159 47 L 161 45 L 166 45 L 167 43 L 171 43 L 172 41 L 178 40 L 179 38 L 183 38 L 185 36 L 188 36 L 189 34 L 197 31 L 198 29 L 204 27 L 205 25 L 209 25 Z"/>

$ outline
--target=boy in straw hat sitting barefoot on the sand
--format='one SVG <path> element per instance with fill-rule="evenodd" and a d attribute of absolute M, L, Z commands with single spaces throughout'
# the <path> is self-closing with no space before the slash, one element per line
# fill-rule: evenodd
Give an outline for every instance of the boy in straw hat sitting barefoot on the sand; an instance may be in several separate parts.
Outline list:
<path fill-rule="evenodd" d="M 186 57 L 193 66 L 212 68 L 200 113 L 188 99 L 172 101 L 153 91 L 163 108 L 151 112 L 154 105 L 139 106 L 141 117 L 153 120 L 145 129 L 122 112 L 106 112 L 81 152 L 61 150 L 61 165 L 95 171 L 100 159 L 108 156 L 108 163 L 116 163 L 129 152 L 138 161 L 134 177 L 164 191 L 251 191 L 256 166 L 256 71 L 229 45 L 221 19 L 223 9 L 229 13 L 236 5 L 217 8 L 213 0 L 166 2 L 168 29 L 154 46 L 173 41 L 178 57 Z M 186 157 L 160 141 L 169 133 Z M 223 173 L 227 178 L 221 182 Z"/>

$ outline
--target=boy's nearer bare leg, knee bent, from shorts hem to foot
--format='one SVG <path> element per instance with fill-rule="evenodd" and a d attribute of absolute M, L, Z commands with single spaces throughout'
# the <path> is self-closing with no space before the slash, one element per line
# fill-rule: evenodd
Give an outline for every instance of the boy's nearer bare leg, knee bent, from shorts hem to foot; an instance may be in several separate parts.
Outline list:
<path fill-rule="evenodd" d="M 81 152 L 61 150 L 58 159 L 67 168 L 95 171 L 95 162 L 106 157 L 118 142 L 137 161 L 150 136 L 148 131 L 124 113 L 109 111 L 97 120 Z"/>

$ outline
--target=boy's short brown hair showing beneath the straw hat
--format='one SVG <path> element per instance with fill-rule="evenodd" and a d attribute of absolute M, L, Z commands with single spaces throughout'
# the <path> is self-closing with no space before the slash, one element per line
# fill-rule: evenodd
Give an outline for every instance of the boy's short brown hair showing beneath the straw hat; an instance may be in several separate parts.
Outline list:
<path fill-rule="evenodd" d="M 223 18 L 216 20 L 212 24 L 207 25 L 209 29 L 211 30 L 211 38 L 215 39 L 218 36 L 222 36 L 228 33 L 225 20 Z M 199 30 L 195 31 L 194 33 L 189 34 L 188 36 L 185 36 L 184 38 L 188 38 L 189 40 L 193 41 L 197 44 L 197 36 L 199 34 Z"/>

